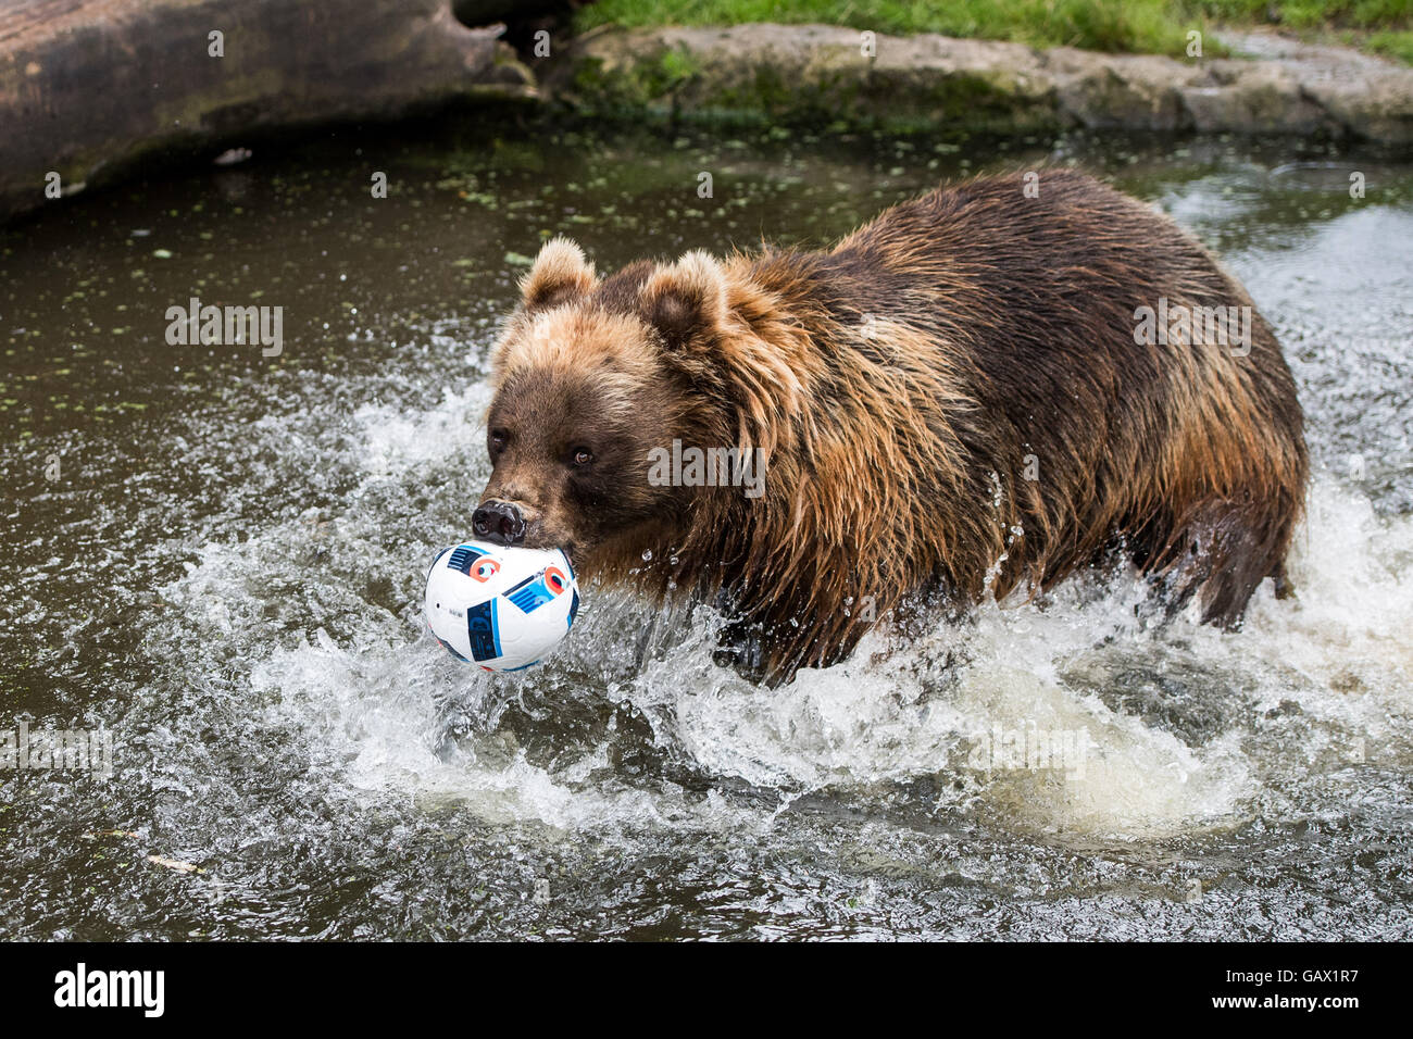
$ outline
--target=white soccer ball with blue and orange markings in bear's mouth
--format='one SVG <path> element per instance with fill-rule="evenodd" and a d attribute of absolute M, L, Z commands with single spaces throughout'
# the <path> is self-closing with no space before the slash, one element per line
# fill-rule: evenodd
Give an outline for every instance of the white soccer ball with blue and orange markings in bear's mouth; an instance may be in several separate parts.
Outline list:
<path fill-rule="evenodd" d="M 560 548 L 466 541 L 427 571 L 427 626 L 458 660 L 517 671 L 560 645 L 579 611 L 579 585 Z"/>

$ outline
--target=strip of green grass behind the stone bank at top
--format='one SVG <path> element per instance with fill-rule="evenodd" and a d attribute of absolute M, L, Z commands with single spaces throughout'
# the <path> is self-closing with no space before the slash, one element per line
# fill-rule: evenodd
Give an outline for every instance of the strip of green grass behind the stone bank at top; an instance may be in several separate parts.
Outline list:
<path fill-rule="evenodd" d="M 747 21 L 852 25 L 906 35 L 1065 44 L 1091 51 L 1181 55 L 1212 24 L 1279 24 L 1413 64 L 1413 0 L 599 0 L 581 31 L 619 25 L 735 25 Z M 1218 54 L 1208 41 L 1208 54 Z"/>

